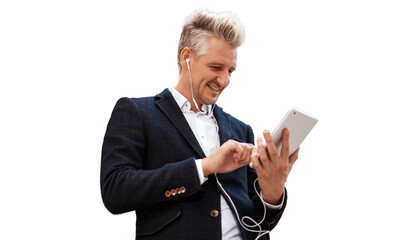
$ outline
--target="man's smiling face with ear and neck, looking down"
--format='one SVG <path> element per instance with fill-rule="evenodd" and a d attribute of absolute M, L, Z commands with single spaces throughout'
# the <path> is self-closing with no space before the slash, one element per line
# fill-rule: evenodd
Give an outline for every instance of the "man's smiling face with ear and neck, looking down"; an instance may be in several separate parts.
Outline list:
<path fill-rule="evenodd" d="M 201 109 L 203 104 L 214 104 L 229 85 L 231 73 L 237 65 L 237 49 L 221 39 L 211 37 L 205 54 L 195 58 L 192 52 L 187 51 L 182 55 L 185 55 L 183 59 L 190 58 L 193 95 Z M 187 67 L 184 70 L 176 89 L 191 102 L 190 76 Z M 192 102 L 191 106 L 194 106 Z"/>

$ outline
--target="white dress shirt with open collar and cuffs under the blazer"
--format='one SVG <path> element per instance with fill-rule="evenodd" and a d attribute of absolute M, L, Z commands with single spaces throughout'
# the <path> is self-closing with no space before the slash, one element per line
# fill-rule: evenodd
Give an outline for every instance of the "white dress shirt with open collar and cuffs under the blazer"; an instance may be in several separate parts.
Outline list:
<path fill-rule="evenodd" d="M 211 105 L 203 105 L 202 112 L 195 113 L 191 111 L 190 102 L 175 88 L 170 87 L 169 91 L 176 100 L 178 106 L 182 110 L 191 130 L 193 131 L 198 143 L 206 156 L 209 156 L 217 148 L 220 147 L 219 127 L 213 116 L 213 109 Z M 202 169 L 202 159 L 195 160 L 200 177 L 200 182 L 203 184 L 207 178 L 204 177 Z M 285 196 L 283 196 L 284 198 Z M 263 199 L 262 199 L 263 201 Z M 264 201 L 263 201 L 264 202 Z M 264 202 L 268 208 L 280 209 L 282 204 L 275 206 Z M 230 209 L 223 195 L 220 196 L 220 211 L 222 221 L 222 239 L 223 240 L 242 240 L 239 223 Z"/>

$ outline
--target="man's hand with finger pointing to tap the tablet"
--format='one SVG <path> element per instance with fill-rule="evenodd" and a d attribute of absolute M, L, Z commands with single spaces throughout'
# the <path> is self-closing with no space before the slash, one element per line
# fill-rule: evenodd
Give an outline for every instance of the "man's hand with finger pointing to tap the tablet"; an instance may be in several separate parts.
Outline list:
<path fill-rule="evenodd" d="M 215 152 L 202 159 L 204 177 L 212 173 L 229 173 L 251 162 L 251 153 L 255 146 L 228 140 Z"/>

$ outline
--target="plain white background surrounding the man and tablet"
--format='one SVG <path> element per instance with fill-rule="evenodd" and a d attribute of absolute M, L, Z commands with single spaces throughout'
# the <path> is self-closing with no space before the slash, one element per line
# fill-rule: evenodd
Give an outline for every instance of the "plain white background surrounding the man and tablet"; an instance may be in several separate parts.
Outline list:
<path fill-rule="evenodd" d="M 184 18 L 236 12 L 247 39 L 219 100 L 255 135 L 318 116 L 273 239 L 399 239 L 397 1 L 1 1 L 1 239 L 134 239 L 103 206 L 102 140 L 123 96 L 175 85 Z"/>

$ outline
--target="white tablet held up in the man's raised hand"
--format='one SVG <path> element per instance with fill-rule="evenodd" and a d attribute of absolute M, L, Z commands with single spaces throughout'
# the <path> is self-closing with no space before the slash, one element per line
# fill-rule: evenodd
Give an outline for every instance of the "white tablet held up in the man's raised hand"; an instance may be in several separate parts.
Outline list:
<path fill-rule="evenodd" d="M 273 142 L 278 153 L 281 150 L 281 136 L 283 130 L 290 131 L 290 156 L 298 149 L 309 132 L 317 123 L 317 118 L 297 108 L 290 109 L 272 133 Z"/>

